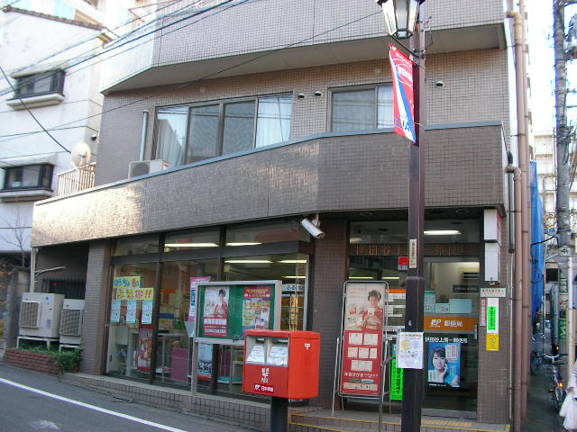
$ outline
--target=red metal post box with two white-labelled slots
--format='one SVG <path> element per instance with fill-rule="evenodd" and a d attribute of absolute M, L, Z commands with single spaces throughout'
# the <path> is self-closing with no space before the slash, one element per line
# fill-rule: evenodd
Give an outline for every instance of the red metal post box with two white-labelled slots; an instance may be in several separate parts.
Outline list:
<path fill-rule="evenodd" d="M 247 330 L 243 392 L 316 398 L 320 351 L 321 335 L 314 331 Z"/>

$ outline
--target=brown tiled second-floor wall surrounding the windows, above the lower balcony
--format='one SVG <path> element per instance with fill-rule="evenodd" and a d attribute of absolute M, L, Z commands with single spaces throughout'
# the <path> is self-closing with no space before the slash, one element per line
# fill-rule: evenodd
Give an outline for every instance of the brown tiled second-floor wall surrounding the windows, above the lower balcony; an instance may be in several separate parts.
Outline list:
<path fill-rule="evenodd" d="M 502 121 L 508 136 L 506 56 L 507 52 L 501 49 L 429 56 L 427 124 Z M 473 79 L 475 85 L 472 85 Z M 444 81 L 444 87 L 435 86 L 438 80 Z M 167 86 L 108 94 L 96 184 L 126 178 L 129 162 L 138 160 L 144 110 L 151 113 L 145 158 L 154 158 L 154 114 L 159 106 L 292 93 L 291 138 L 300 139 L 330 130 L 330 88 L 390 82 L 389 61 L 379 59 L 214 79 L 176 90 Z M 316 91 L 323 95 L 313 96 Z M 300 93 L 305 94 L 304 99 L 296 97 Z"/>

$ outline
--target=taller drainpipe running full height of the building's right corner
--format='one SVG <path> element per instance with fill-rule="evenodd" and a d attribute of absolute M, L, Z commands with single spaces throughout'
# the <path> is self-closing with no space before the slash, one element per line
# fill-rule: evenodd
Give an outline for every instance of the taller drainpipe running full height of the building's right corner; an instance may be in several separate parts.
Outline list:
<path fill-rule="evenodd" d="M 529 182 L 528 182 L 528 160 L 529 148 L 527 143 L 527 73 L 526 73 L 526 42 L 524 28 L 525 2 L 519 0 L 519 12 L 512 10 L 512 1 L 509 0 L 509 9 L 507 16 L 513 18 L 514 27 L 514 45 L 515 45 L 515 70 L 516 70 L 516 87 L 517 87 L 517 146 L 519 154 L 519 168 L 521 171 L 521 206 L 516 211 L 521 211 L 521 242 L 518 243 L 517 251 L 522 257 L 522 311 L 521 311 L 521 416 L 525 419 L 527 415 L 527 383 L 529 374 L 529 338 L 530 338 L 530 239 L 529 239 L 529 211 L 531 202 L 529 200 Z"/>

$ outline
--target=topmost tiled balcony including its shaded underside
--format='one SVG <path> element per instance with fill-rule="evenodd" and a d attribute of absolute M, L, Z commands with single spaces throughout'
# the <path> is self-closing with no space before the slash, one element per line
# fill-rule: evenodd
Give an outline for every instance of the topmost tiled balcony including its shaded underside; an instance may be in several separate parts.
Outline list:
<path fill-rule="evenodd" d="M 427 41 L 433 42 L 427 53 L 506 48 L 504 3 L 426 2 Z M 202 8 L 186 0 L 172 9 L 156 31 L 146 27 L 133 44 L 111 51 L 114 67 L 106 67 L 105 91 L 382 58 L 391 41 L 373 0 L 259 0 Z"/>

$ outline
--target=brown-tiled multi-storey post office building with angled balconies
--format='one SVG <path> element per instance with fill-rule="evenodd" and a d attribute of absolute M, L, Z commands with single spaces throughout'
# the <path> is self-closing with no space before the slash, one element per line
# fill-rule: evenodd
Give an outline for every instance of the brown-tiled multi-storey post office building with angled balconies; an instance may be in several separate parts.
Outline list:
<path fill-rule="evenodd" d="M 452 343 L 459 384 L 431 380 L 424 406 L 485 423 L 508 422 L 512 409 L 510 295 L 499 298 L 498 351 L 487 350 L 480 321 L 482 288 L 511 289 L 504 167 L 508 151 L 517 164 L 517 119 L 503 3 L 447 0 L 426 10 L 425 261 L 426 290 L 435 292 L 426 354 Z M 191 278 L 280 280 L 282 329 L 322 335 L 320 396 L 309 403 L 328 407 L 344 282 L 387 281 L 398 312 L 390 329 L 404 322 L 408 142 L 391 128 L 380 8 L 369 0 L 172 7 L 185 5 L 149 43 L 107 65 L 96 187 L 36 203 L 37 266 L 79 271 L 87 257 L 83 372 L 192 385 L 199 398 L 216 392 L 236 403 L 242 345 L 189 349 Z M 325 238 L 300 226 L 316 213 Z M 483 227 L 494 228 L 490 245 Z M 150 323 L 138 318 L 150 303 L 129 304 L 114 287 L 121 276 L 153 288 Z M 190 369 L 193 355 L 199 366 Z"/>

